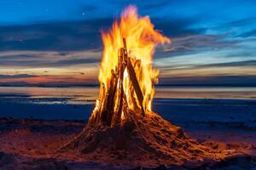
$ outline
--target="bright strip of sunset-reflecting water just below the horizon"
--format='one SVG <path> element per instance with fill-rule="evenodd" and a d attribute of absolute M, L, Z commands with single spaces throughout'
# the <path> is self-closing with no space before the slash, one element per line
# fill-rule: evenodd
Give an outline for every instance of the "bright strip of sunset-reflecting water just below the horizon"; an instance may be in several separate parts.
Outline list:
<path fill-rule="evenodd" d="M 57 104 L 91 104 L 98 96 L 98 87 L 28 88 L 0 87 L 0 98 L 24 99 L 26 102 Z M 28 99 L 28 100 L 26 100 Z M 157 87 L 154 99 L 256 99 L 255 88 Z"/>

